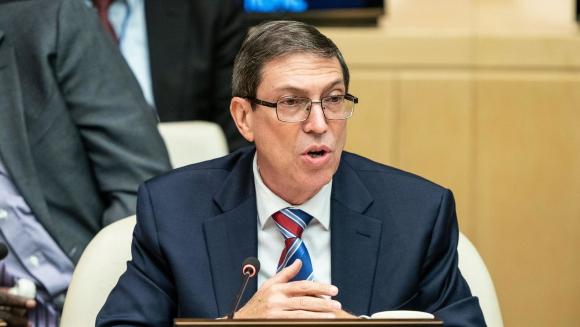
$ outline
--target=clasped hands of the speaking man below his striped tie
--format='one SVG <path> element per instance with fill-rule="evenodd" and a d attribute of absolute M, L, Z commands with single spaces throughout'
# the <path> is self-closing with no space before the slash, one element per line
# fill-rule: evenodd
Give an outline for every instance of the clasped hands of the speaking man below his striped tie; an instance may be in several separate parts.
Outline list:
<path fill-rule="evenodd" d="M 338 294 L 336 286 L 305 280 L 288 282 L 298 274 L 301 267 L 302 262 L 296 260 L 267 280 L 250 301 L 236 312 L 234 318 L 355 318 L 341 310 L 340 302 L 323 297 Z"/>

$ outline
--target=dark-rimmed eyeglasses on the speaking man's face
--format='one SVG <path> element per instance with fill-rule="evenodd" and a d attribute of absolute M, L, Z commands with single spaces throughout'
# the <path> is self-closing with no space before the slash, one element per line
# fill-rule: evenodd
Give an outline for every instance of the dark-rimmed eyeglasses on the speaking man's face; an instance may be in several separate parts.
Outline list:
<path fill-rule="evenodd" d="M 313 103 L 320 103 L 324 118 L 328 120 L 349 119 L 354 112 L 355 103 L 358 103 L 358 98 L 351 94 L 330 95 L 320 101 L 299 97 L 283 97 L 276 102 L 267 102 L 254 97 L 244 98 L 261 106 L 276 108 L 278 120 L 287 123 L 299 123 L 308 119 Z"/>

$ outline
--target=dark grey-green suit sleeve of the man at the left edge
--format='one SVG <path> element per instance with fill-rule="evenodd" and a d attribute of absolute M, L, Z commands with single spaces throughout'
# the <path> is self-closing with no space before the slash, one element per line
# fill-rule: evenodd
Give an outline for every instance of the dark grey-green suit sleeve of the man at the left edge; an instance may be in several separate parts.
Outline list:
<path fill-rule="evenodd" d="M 134 214 L 137 187 L 171 168 L 154 109 L 86 1 L 59 12 L 56 78 L 106 210 L 102 225 Z"/>

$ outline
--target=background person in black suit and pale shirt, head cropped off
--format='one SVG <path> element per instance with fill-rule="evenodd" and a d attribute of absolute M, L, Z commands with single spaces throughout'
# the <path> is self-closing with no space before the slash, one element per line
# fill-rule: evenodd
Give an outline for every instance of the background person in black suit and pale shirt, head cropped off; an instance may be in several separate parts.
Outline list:
<path fill-rule="evenodd" d="M 235 0 L 116 0 L 101 10 L 162 122 L 216 122 L 230 151 L 249 144 L 229 113 L 234 58 L 246 35 Z"/>

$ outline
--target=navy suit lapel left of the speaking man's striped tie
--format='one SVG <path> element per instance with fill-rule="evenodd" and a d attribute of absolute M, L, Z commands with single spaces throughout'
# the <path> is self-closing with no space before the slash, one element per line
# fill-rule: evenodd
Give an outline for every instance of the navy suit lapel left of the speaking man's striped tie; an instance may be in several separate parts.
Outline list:
<path fill-rule="evenodd" d="M 242 263 L 258 255 L 258 211 L 252 162 L 254 151 L 247 153 L 214 196 L 223 214 L 204 222 L 215 296 L 220 316 L 230 310 L 242 280 Z M 257 290 L 252 278 L 240 302 L 249 301 Z"/>

